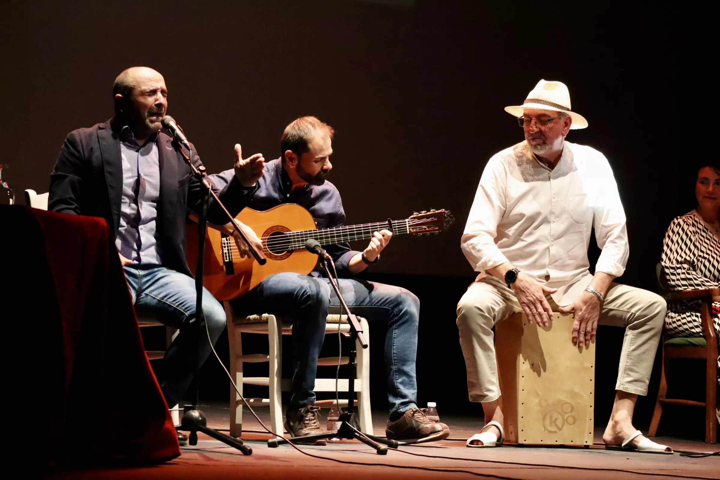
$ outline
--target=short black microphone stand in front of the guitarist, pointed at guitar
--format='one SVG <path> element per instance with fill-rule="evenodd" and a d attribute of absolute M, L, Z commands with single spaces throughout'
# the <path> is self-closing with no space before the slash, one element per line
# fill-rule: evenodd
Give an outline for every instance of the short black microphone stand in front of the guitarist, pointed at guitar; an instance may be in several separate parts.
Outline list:
<path fill-rule="evenodd" d="M 397 443 L 396 440 L 388 440 L 387 438 L 376 437 L 375 435 L 368 435 L 366 433 L 362 433 L 360 430 L 356 429 L 353 425 L 351 425 L 354 416 L 355 377 L 357 375 L 357 364 L 355 363 L 355 345 L 356 342 L 359 342 L 362 348 L 367 348 L 367 343 L 363 336 L 363 330 L 360 322 L 358 322 L 357 317 L 350 312 L 348 304 L 346 304 L 345 299 L 343 299 L 343 294 L 340 293 L 340 288 L 338 287 L 336 279 L 333 279 L 333 276 L 330 273 L 330 268 L 328 268 L 328 261 L 325 260 L 325 257 L 323 255 L 320 255 L 320 259 L 322 260 L 323 268 L 325 268 L 325 273 L 328 274 L 328 279 L 330 279 L 330 285 L 333 286 L 333 290 L 335 290 L 335 293 L 340 300 L 341 308 L 344 309 L 346 314 L 348 315 L 348 324 L 350 325 L 352 346 L 350 348 L 350 351 L 348 352 L 348 365 L 350 366 L 350 368 L 348 368 L 348 408 L 346 409 L 346 412 L 343 412 L 340 415 L 341 424 L 338 430 L 328 433 L 319 433 L 317 435 L 305 435 L 305 437 L 293 437 L 289 439 L 273 438 L 271 440 L 268 440 L 268 446 L 270 448 L 275 448 L 278 445 L 283 445 L 289 442 L 315 443 L 318 440 L 326 440 L 328 438 L 346 438 L 348 440 L 360 440 L 362 443 L 370 445 L 372 448 L 377 450 L 378 455 L 387 455 L 387 446 L 385 445 L 390 446 L 390 448 L 397 448 L 400 444 Z M 332 258 L 330 258 L 330 263 L 333 263 L 334 270 L 335 265 Z M 340 405 L 338 405 L 338 408 L 340 408 Z M 384 445 L 381 445 L 381 443 Z"/>

